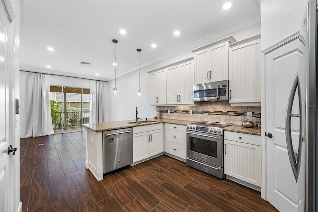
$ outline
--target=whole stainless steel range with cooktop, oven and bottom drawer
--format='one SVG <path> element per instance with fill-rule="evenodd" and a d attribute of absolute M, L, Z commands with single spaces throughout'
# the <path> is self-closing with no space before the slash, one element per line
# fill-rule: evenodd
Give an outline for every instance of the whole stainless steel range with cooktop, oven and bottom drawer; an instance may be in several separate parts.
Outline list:
<path fill-rule="evenodd" d="M 224 178 L 223 128 L 232 124 L 200 121 L 187 125 L 187 165 Z"/>

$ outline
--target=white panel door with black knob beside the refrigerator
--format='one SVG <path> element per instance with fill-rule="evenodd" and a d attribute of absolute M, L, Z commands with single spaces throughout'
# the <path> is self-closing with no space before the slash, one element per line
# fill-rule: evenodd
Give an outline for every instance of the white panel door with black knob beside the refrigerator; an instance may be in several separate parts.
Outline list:
<path fill-rule="evenodd" d="M 298 39 L 291 41 L 266 54 L 265 59 L 265 115 L 267 161 L 267 200 L 279 211 L 298 212 L 301 200 L 297 197 L 297 183 L 289 162 L 286 137 L 285 115 L 288 95 L 298 69 Z M 296 92 L 297 93 L 297 92 Z M 298 96 L 295 96 L 293 114 L 299 114 Z M 297 150 L 299 119 L 292 119 L 292 140 Z"/>

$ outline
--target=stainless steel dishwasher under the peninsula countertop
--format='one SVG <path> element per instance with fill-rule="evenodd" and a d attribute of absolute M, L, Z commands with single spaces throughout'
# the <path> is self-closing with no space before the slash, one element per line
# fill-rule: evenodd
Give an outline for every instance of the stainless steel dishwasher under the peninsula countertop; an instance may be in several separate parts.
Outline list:
<path fill-rule="evenodd" d="M 103 173 L 133 163 L 133 128 L 103 132 Z"/>

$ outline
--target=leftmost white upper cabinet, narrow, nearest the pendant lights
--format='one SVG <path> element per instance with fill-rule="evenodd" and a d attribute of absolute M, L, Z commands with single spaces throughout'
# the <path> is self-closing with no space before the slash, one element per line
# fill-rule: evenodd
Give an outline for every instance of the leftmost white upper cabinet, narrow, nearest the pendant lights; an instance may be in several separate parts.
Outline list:
<path fill-rule="evenodd" d="M 165 105 L 166 100 L 166 69 L 149 74 L 150 105 Z"/>

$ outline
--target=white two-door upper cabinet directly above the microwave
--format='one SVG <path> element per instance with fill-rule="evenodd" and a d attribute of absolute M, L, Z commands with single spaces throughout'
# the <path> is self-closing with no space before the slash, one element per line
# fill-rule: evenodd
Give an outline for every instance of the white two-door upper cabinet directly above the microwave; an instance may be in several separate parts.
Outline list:
<path fill-rule="evenodd" d="M 194 83 L 209 83 L 229 79 L 229 45 L 232 36 L 193 50 Z"/>

